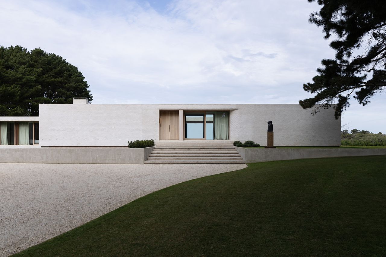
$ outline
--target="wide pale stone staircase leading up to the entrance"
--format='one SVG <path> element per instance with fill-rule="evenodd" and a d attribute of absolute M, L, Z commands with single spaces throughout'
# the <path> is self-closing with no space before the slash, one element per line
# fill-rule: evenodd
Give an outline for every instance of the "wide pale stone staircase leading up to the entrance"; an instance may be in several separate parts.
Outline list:
<path fill-rule="evenodd" d="M 145 164 L 245 163 L 232 141 L 159 141 Z"/>

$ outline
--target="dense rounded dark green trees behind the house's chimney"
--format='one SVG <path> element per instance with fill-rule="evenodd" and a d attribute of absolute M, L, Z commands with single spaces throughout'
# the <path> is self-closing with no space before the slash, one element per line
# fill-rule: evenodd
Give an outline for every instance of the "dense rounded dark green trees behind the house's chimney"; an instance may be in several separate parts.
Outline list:
<path fill-rule="evenodd" d="M 92 100 L 78 68 L 61 56 L 16 45 L 0 47 L 0 116 L 38 116 L 39 104 Z"/>

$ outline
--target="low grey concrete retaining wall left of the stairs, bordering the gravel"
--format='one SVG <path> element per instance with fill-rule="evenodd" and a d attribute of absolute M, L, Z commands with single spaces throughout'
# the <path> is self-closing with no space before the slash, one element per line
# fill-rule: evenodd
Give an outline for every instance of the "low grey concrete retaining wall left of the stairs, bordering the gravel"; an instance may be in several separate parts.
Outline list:
<path fill-rule="evenodd" d="M 6 148 L 0 163 L 144 164 L 153 148 Z"/>

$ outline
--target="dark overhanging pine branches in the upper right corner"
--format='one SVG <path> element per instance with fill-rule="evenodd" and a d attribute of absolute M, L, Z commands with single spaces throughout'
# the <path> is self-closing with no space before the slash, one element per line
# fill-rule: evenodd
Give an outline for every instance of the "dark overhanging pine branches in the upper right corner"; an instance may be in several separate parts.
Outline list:
<path fill-rule="evenodd" d="M 316 0 L 308 0 L 315 2 Z M 322 6 L 311 13 L 309 22 L 323 27 L 335 59 L 323 59 L 312 83 L 303 89 L 316 93 L 299 101 L 304 108 L 335 108 L 335 118 L 354 97 L 363 106 L 386 86 L 386 1 L 317 0 Z M 336 105 L 332 105 L 336 103 Z M 315 104 L 320 104 L 315 106 Z"/>

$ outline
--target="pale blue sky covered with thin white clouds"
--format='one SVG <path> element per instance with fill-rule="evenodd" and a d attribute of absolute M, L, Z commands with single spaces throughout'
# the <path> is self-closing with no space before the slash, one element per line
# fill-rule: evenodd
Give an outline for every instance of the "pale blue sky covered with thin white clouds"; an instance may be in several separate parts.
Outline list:
<path fill-rule="evenodd" d="M 93 104 L 298 103 L 334 52 L 306 0 L 0 0 L 0 45 L 78 67 Z M 347 128 L 386 133 L 385 96 L 356 101 Z M 311 111 L 310 111 L 311 112 Z"/>

